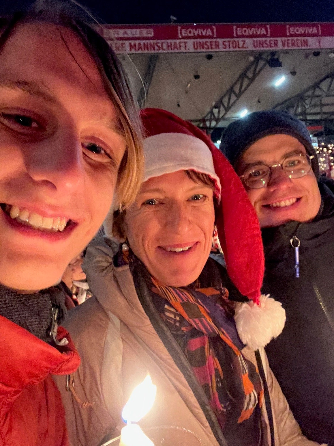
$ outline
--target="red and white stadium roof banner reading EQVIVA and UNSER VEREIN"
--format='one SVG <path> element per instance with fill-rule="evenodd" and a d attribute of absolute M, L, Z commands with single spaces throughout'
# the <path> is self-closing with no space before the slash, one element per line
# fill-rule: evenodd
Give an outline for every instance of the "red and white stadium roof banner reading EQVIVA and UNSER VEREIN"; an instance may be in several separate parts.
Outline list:
<path fill-rule="evenodd" d="M 334 23 L 104 25 L 117 53 L 322 50 L 334 48 Z"/>

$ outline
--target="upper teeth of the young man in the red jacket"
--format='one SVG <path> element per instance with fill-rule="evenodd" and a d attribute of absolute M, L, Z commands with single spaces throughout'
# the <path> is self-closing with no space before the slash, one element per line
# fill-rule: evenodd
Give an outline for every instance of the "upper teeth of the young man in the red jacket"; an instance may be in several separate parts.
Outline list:
<path fill-rule="evenodd" d="M 27 223 L 35 229 L 49 229 L 53 231 L 64 231 L 68 219 L 65 217 L 42 217 L 27 209 L 20 209 L 17 206 L 6 206 L 12 219 L 17 219 L 22 223 Z"/>

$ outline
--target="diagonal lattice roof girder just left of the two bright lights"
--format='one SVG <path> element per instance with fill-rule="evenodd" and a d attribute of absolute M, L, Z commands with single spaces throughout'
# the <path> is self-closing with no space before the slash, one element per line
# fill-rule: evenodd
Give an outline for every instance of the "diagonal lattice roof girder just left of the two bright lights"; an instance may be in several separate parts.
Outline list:
<path fill-rule="evenodd" d="M 203 128 L 215 128 L 224 116 L 231 110 L 234 104 L 240 99 L 244 92 L 252 85 L 257 76 L 264 70 L 268 63 L 270 54 L 265 55 L 260 53 L 255 56 L 253 62 L 251 62 L 245 70 L 240 73 L 238 78 L 231 87 L 225 91 L 224 95 L 218 99 L 215 105 L 210 111 L 202 118 L 198 120 L 199 127 Z"/>

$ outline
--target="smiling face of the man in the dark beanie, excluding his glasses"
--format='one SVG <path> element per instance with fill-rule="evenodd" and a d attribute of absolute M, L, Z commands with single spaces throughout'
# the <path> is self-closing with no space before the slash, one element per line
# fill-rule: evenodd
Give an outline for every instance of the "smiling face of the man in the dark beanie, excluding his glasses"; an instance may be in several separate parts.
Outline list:
<path fill-rule="evenodd" d="M 251 145 L 237 163 L 238 175 L 249 165 L 272 166 L 290 154 L 305 153 L 305 147 L 293 136 L 270 135 Z M 255 168 L 255 167 L 254 167 Z M 274 227 L 291 220 L 308 222 L 318 214 L 321 196 L 313 170 L 301 178 L 289 178 L 280 166 L 272 169 L 270 182 L 261 189 L 245 188 L 261 227 Z"/>

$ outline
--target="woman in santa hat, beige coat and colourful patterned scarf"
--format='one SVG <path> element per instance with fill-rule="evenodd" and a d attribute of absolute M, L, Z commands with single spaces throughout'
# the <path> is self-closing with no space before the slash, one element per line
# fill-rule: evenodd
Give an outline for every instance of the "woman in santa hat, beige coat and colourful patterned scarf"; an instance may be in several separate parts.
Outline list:
<path fill-rule="evenodd" d="M 142 188 L 106 228 L 123 243 L 90 246 L 94 297 L 67 324 L 82 359 L 69 381 L 76 398 L 63 392 L 72 444 L 116 437 L 149 373 L 157 397 L 141 426 L 156 446 L 315 445 L 263 349 L 285 312 L 261 296 L 261 233 L 240 179 L 199 128 L 158 109 L 142 120 Z M 210 256 L 215 234 L 226 268 Z"/>

